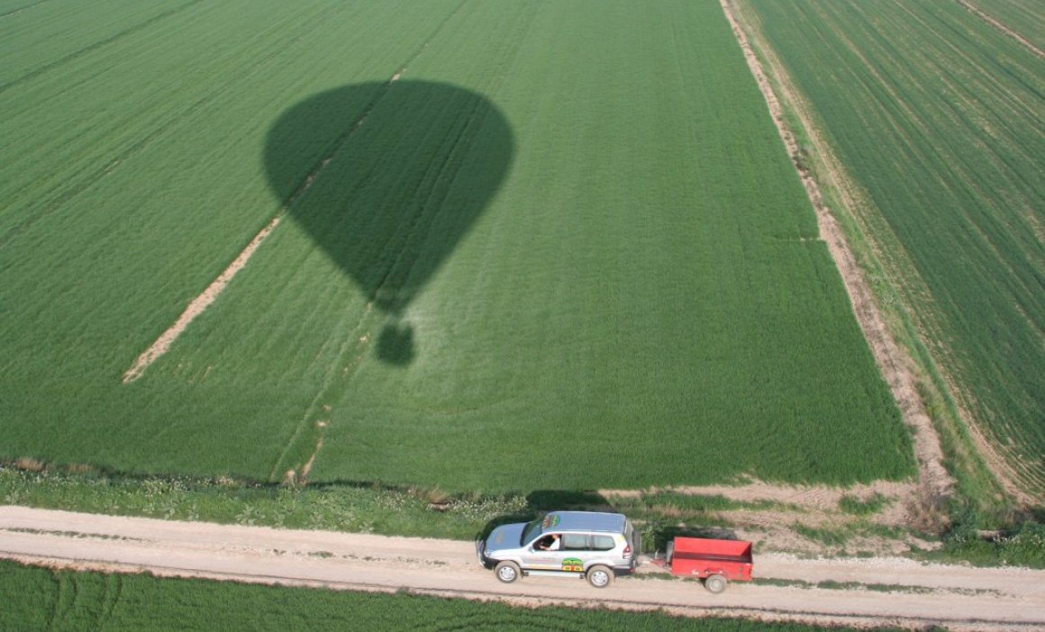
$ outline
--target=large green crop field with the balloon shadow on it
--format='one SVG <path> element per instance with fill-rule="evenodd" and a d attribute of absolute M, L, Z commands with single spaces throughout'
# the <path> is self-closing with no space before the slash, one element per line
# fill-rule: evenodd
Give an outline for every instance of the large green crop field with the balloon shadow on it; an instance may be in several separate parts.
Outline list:
<path fill-rule="evenodd" d="M 0 52 L 0 458 L 519 493 L 914 471 L 714 0 L 50 0 Z"/>

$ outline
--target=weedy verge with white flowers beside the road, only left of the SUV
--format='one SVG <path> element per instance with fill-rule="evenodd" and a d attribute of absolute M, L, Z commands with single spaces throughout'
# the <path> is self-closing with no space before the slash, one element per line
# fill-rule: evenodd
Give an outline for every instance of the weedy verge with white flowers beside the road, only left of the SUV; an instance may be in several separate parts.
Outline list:
<path fill-rule="evenodd" d="M 0 502 L 168 520 L 470 539 L 505 516 L 533 513 L 524 496 L 444 496 L 380 485 L 257 484 L 0 467 Z"/>

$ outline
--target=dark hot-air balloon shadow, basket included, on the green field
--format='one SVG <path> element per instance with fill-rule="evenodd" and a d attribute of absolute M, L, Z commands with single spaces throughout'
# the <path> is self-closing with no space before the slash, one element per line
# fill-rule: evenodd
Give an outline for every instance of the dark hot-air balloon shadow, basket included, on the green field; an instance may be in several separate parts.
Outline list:
<path fill-rule="evenodd" d="M 388 315 L 377 356 L 415 357 L 404 311 L 488 205 L 513 138 L 482 95 L 434 81 L 345 86 L 287 110 L 264 164 L 288 214 Z"/>

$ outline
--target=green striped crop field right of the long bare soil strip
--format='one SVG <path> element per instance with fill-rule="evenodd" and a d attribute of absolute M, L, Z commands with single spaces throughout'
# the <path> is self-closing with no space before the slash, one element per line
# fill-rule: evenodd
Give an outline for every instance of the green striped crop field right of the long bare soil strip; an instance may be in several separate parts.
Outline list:
<path fill-rule="evenodd" d="M 976 4 L 1041 34 L 1040 4 Z M 884 218 L 874 237 L 960 404 L 1043 489 L 1041 58 L 957 3 L 750 6 Z"/>

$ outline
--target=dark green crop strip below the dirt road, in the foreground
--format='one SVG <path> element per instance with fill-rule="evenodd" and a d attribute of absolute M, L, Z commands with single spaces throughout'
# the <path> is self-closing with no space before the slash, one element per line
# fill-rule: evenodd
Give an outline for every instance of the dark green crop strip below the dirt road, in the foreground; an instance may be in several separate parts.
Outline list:
<path fill-rule="evenodd" d="M 660 612 L 521 608 L 404 593 L 335 592 L 147 575 L 55 571 L 0 560 L 0 629 L 850 630 Z M 390 616 L 390 613 L 395 613 Z"/>

